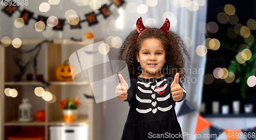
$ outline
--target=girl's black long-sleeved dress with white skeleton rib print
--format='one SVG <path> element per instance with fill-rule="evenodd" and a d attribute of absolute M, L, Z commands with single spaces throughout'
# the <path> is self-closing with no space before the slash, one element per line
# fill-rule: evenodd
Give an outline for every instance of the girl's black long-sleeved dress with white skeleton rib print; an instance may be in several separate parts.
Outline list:
<path fill-rule="evenodd" d="M 121 140 L 183 139 L 175 113 L 175 101 L 170 92 L 174 76 L 161 78 L 131 78 L 127 92 L 130 110 L 125 122 Z M 179 80 L 185 99 L 186 91 Z M 176 135 L 175 135 L 176 134 Z"/>

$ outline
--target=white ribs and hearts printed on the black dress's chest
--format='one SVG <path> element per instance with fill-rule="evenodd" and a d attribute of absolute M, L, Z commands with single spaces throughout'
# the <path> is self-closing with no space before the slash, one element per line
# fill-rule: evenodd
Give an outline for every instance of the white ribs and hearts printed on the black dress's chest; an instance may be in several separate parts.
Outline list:
<path fill-rule="evenodd" d="M 137 85 L 138 85 L 138 90 L 140 91 L 139 94 L 147 94 L 149 95 L 148 97 L 150 97 L 150 99 L 142 99 L 140 98 L 140 95 L 137 95 L 136 93 L 136 100 L 138 101 L 138 103 L 151 104 L 151 107 L 146 109 L 141 109 L 136 107 L 136 110 L 138 111 L 138 113 L 146 114 L 146 113 L 152 112 L 153 114 L 156 114 L 158 110 L 164 112 L 172 109 L 173 105 L 171 102 L 165 103 L 167 104 L 167 106 L 158 105 L 158 102 L 164 102 L 164 101 L 167 102 L 168 101 L 167 99 L 170 98 L 170 91 L 165 91 L 168 86 L 167 79 L 161 79 L 159 81 L 156 80 L 155 82 L 150 81 L 147 83 L 143 81 L 137 81 Z M 164 95 L 163 93 L 165 92 L 168 92 L 168 95 Z M 157 98 L 156 98 L 156 94 L 158 94 Z"/>

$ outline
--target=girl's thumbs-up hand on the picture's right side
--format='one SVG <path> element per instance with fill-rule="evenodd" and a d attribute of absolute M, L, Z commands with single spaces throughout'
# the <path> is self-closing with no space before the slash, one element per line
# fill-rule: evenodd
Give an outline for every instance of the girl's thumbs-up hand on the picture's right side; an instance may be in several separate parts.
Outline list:
<path fill-rule="evenodd" d="M 181 86 L 178 83 L 179 76 L 180 76 L 180 74 L 176 73 L 175 77 L 174 77 L 174 81 L 170 85 L 170 91 L 172 91 L 172 96 L 173 96 L 174 101 L 179 101 L 183 97 L 183 91 L 181 89 Z"/>

